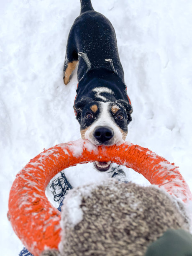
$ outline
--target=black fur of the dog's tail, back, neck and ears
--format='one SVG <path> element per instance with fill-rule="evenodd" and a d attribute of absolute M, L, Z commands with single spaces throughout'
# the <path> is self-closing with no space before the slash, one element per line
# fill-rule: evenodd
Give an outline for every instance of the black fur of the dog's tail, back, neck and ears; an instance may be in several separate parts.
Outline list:
<path fill-rule="evenodd" d="M 112 62 L 106 59 L 111 59 Z M 69 32 L 64 74 L 72 61 L 79 61 L 77 97 L 74 103 L 79 123 L 82 124 L 82 109 L 90 103 L 90 99 L 102 101 L 92 90 L 95 87 L 107 87 L 114 94 L 104 93 L 103 96 L 108 102 L 124 102 L 122 111 L 126 110 L 125 125 L 128 125 L 132 120 L 132 107 L 124 82 L 115 30 L 105 16 L 92 8 L 90 0 L 81 0 L 81 13 Z"/>

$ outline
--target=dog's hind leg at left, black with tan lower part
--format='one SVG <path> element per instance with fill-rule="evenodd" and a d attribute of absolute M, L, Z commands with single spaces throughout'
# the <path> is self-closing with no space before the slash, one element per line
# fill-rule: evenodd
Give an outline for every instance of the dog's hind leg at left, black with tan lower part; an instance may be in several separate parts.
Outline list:
<path fill-rule="evenodd" d="M 73 41 L 74 41 L 74 37 L 73 37 L 73 32 L 71 30 L 67 40 L 67 49 L 66 49 L 64 68 L 63 68 L 64 84 L 68 84 L 69 78 L 78 63 L 78 54 L 75 49 L 75 46 L 74 46 L 75 44 L 73 43 Z"/>

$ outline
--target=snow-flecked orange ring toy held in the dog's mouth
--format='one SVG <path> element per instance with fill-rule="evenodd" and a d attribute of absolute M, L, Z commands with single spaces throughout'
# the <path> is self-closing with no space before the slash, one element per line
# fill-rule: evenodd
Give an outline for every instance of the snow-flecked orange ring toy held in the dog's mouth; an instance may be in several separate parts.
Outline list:
<path fill-rule="evenodd" d="M 50 179 L 69 166 L 95 160 L 125 165 L 184 202 L 192 200 L 178 167 L 148 148 L 128 142 L 120 146 L 93 146 L 83 140 L 56 145 L 33 158 L 17 174 L 10 190 L 8 218 L 34 256 L 46 248 L 58 248 L 60 242 L 60 212 L 45 196 Z"/>

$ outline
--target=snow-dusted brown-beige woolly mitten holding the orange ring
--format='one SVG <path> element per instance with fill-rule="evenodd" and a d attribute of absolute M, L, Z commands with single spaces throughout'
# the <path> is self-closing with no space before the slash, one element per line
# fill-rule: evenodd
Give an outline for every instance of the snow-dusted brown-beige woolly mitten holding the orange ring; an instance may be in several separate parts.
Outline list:
<path fill-rule="evenodd" d="M 69 207 L 74 198 L 81 212 L 77 221 L 72 221 Z M 45 251 L 43 256 L 143 256 L 167 229 L 189 230 L 182 203 L 153 186 L 114 179 L 71 190 L 61 215 L 59 251 Z"/>

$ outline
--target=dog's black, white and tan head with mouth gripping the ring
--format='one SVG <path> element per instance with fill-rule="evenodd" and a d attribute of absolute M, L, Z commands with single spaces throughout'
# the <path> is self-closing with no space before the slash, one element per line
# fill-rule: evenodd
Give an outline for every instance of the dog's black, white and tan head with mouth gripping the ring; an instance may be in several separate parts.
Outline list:
<path fill-rule="evenodd" d="M 84 98 L 74 104 L 76 118 L 80 124 L 81 136 L 95 145 L 111 146 L 120 143 L 128 133 L 132 107 L 125 100 L 99 101 Z M 111 161 L 95 161 L 99 171 L 107 171 Z"/>

